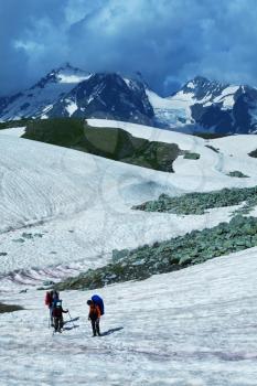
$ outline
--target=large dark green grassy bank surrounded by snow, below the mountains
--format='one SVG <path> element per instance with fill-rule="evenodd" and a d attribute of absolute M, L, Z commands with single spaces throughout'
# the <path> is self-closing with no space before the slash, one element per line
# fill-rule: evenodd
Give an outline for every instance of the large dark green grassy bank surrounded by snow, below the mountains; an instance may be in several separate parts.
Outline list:
<path fill-rule="evenodd" d="M 173 172 L 173 161 L 183 153 L 175 143 L 148 141 L 117 128 L 93 128 L 74 118 L 29 121 L 22 137 L 165 172 Z"/>

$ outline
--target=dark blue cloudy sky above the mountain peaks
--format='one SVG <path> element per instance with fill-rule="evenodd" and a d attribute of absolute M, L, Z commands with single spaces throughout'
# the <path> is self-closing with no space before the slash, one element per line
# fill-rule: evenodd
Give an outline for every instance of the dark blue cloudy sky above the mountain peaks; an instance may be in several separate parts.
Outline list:
<path fill-rule="evenodd" d="M 0 9 L 0 93 L 63 62 L 140 71 L 169 93 L 197 74 L 256 85 L 256 0 L 9 0 Z"/>

